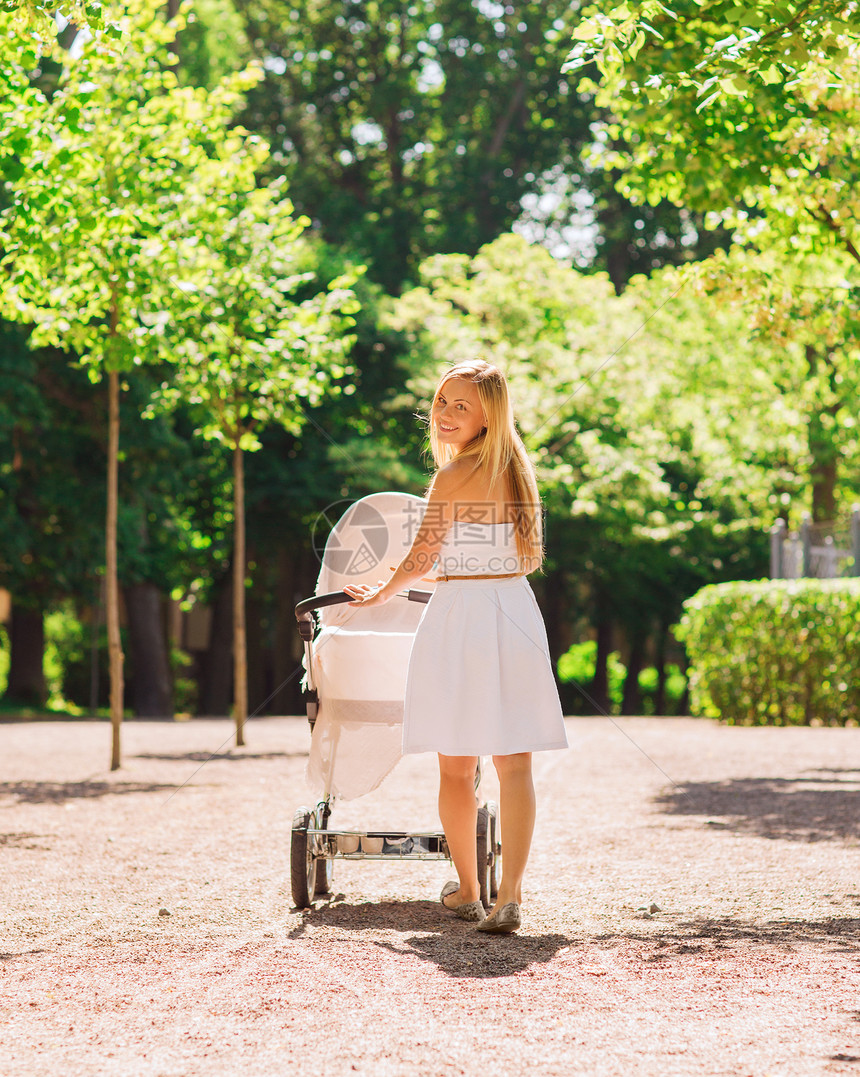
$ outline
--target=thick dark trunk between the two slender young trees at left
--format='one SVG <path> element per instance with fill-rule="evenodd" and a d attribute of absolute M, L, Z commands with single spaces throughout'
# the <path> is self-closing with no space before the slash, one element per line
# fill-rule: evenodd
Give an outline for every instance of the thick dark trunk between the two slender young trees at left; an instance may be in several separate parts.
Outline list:
<path fill-rule="evenodd" d="M 161 592 L 155 584 L 125 588 L 131 698 L 139 718 L 173 716 L 173 679 Z"/>

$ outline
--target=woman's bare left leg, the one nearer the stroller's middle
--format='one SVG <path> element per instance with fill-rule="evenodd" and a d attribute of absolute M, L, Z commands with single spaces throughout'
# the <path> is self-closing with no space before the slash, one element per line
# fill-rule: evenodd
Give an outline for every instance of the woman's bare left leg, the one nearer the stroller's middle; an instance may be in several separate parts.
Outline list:
<path fill-rule="evenodd" d="M 439 756 L 439 819 L 454 862 L 460 890 L 446 898 L 455 909 L 467 901 L 477 901 L 478 853 L 475 831 L 478 825 L 478 801 L 475 797 L 475 755 Z"/>

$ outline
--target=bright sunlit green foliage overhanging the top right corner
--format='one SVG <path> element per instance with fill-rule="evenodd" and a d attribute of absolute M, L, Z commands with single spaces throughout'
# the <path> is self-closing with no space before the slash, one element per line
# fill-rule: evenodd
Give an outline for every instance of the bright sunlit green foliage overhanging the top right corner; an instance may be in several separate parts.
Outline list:
<path fill-rule="evenodd" d="M 860 262 L 854 4 L 682 0 L 584 14 L 567 69 L 600 72 L 580 90 L 611 114 L 600 156 L 625 195 L 746 224 L 759 246 L 835 244 Z"/>

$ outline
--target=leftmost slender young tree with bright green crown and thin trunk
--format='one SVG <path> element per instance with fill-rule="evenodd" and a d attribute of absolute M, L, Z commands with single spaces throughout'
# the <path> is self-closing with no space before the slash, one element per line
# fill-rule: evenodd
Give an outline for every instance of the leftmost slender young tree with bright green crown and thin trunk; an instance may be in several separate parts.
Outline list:
<path fill-rule="evenodd" d="M 177 289 L 163 252 L 166 237 L 186 234 L 197 177 L 213 158 L 221 168 L 223 155 L 259 153 L 257 140 L 227 130 L 254 75 L 234 76 L 209 93 L 180 87 L 167 48 L 174 27 L 154 12 L 141 0 L 118 19 L 118 30 L 96 32 L 50 97 L 28 78 L 37 61 L 32 37 L 6 17 L 4 66 L 15 93 L 0 113 L 11 132 L 0 140 L 10 195 L 0 227 L 1 312 L 33 326 L 32 346 L 72 351 L 96 380 L 108 381 L 113 769 L 124 696 L 116 565 L 122 378 L 172 358 L 165 325 L 177 311 Z"/>

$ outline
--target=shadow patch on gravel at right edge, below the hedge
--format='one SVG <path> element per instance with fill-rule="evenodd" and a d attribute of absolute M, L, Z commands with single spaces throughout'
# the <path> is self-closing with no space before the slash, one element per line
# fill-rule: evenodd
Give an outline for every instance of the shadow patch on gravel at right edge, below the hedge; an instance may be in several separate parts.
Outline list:
<path fill-rule="evenodd" d="M 709 826 L 789 841 L 857 839 L 858 802 L 860 771 L 832 767 L 802 778 L 686 782 L 657 798 L 673 815 L 708 815 Z"/>

